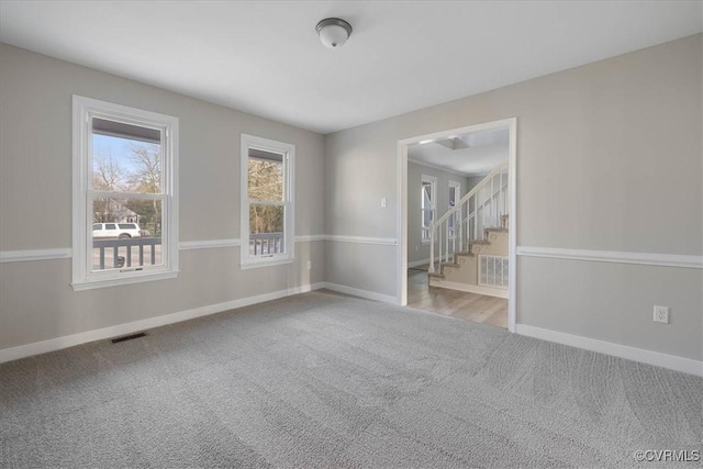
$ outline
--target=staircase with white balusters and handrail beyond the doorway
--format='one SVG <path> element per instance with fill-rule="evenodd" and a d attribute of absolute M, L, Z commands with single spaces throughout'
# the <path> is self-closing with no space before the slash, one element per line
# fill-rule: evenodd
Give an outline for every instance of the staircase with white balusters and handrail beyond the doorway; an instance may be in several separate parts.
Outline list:
<path fill-rule="evenodd" d="M 432 224 L 431 287 L 507 298 L 509 200 L 504 161 Z"/>

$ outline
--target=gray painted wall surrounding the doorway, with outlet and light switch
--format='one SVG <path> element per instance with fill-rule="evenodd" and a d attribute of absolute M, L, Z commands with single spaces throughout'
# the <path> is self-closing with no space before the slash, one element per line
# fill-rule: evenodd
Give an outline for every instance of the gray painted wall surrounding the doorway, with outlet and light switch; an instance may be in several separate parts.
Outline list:
<path fill-rule="evenodd" d="M 518 246 L 701 255 L 702 38 L 327 135 L 326 231 L 397 238 L 398 141 L 517 116 Z M 325 278 L 395 295 L 395 250 L 327 243 Z M 517 276 L 517 323 L 703 358 L 701 269 L 522 257 Z"/>

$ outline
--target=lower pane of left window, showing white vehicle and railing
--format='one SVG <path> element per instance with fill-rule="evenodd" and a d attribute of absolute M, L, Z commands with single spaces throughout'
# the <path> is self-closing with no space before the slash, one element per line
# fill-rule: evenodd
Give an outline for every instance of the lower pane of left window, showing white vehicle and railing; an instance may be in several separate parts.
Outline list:
<path fill-rule="evenodd" d="M 160 200 L 96 198 L 93 221 L 115 223 L 93 225 L 91 271 L 163 266 L 161 217 Z"/>

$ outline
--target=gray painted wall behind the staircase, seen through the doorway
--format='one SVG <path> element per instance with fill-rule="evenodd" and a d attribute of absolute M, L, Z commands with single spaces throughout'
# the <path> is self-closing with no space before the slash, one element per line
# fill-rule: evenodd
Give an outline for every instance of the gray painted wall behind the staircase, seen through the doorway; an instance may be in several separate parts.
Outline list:
<path fill-rule="evenodd" d="M 461 185 L 461 197 L 480 182 L 480 177 L 459 176 L 437 168 L 408 163 L 408 263 L 429 258 L 429 244 L 422 243 L 422 175 L 437 178 L 437 219 L 449 208 L 449 181 Z"/>

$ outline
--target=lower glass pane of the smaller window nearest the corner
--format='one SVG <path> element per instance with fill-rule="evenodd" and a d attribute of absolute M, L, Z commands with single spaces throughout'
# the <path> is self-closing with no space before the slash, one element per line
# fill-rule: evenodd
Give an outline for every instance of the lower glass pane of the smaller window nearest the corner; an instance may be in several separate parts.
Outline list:
<path fill-rule="evenodd" d="M 249 255 L 271 255 L 286 252 L 282 205 L 249 204 Z"/>

